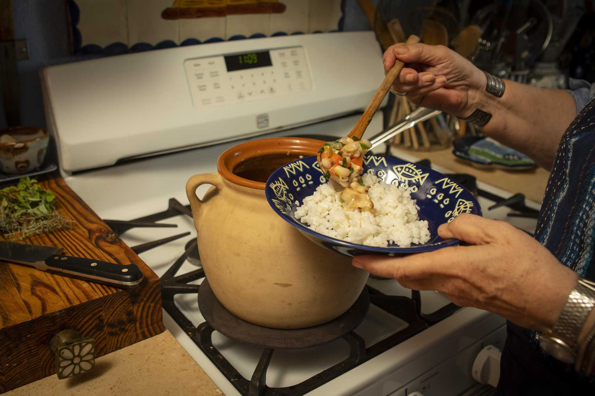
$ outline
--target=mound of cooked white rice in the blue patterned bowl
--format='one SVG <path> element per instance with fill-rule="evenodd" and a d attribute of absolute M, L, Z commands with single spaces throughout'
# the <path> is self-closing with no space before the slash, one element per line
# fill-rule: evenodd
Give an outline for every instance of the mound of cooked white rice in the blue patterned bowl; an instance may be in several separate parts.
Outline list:
<path fill-rule="evenodd" d="M 394 242 L 408 248 L 412 243 L 430 240 L 428 222 L 419 220 L 419 207 L 409 189 L 383 183 L 368 174 L 362 180 L 371 186 L 368 191 L 374 203 L 371 211 L 343 208 L 337 194 L 343 187 L 328 182 L 304 198 L 302 205 L 296 202 L 296 219 L 318 233 L 360 245 L 386 247 Z"/>

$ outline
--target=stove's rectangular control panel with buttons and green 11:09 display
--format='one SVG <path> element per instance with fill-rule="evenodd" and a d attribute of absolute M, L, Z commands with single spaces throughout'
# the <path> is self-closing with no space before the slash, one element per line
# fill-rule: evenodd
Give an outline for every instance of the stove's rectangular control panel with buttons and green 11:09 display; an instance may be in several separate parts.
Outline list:
<path fill-rule="evenodd" d="M 186 59 L 184 68 L 199 108 L 312 90 L 302 46 Z"/>

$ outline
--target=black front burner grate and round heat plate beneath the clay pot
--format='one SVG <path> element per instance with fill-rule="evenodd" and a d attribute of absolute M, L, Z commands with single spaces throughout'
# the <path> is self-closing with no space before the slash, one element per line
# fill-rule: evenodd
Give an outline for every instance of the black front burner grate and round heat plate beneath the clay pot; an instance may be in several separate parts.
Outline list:
<path fill-rule="evenodd" d="M 243 396 L 304 395 L 367 362 L 369 359 L 378 356 L 384 351 L 391 349 L 397 344 L 402 343 L 408 338 L 413 337 L 432 324 L 431 321 L 423 320 L 420 317 L 421 312 L 419 312 L 418 304 L 421 302 L 421 296 L 417 296 L 415 299 L 403 296 L 387 296 L 369 286 L 366 286 L 362 295 L 352 308 L 350 308 L 349 311 L 351 312 L 348 311 L 349 315 L 346 313 L 328 324 L 320 325 L 320 327 L 297 330 L 274 330 L 249 324 L 236 318 L 236 316 L 233 316 L 221 306 L 221 303 L 212 294 L 206 279 L 201 285 L 188 284 L 190 281 L 198 280 L 205 276 L 202 268 L 176 276 L 177 271 L 184 261 L 186 261 L 190 252 L 196 248 L 196 240 L 192 242 L 189 243 L 184 254 L 161 277 L 163 308 Z M 176 294 L 189 293 L 198 294 L 199 308 L 206 319 L 198 327 L 195 327 L 192 321 L 174 303 L 174 296 Z M 419 292 L 417 293 L 419 294 Z M 356 334 L 353 329 L 363 320 L 369 303 L 407 322 L 408 327 L 390 335 L 384 340 L 378 341 L 378 343 L 366 346 L 364 339 Z M 449 308 L 451 309 L 450 313 L 459 309 L 455 305 L 452 306 Z M 441 312 L 441 315 L 444 315 L 444 312 Z M 425 316 L 429 317 L 431 315 Z M 343 330 L 341 329 L 342 325 Z M 327 328 L 327 330 L 322 331 L 324 328 Z M 240 375 L 237 369 L 212 344 L 211 335 L 215 329 L 230 338 L 246 344 L 260 346 L 264 349 L 250 380 Z M 317 330 L 321 331 L 317 332 Z M 309 332 L 313 334 L 308 334 Z M 270 388 L 267 386 L 267 369 L 275 349 L 303 349 L 329 343 L 339 338 L 343 338 L 349 344 L 350 348 L 349 357 L 343 360 L 343 362 L 339 362 L 317 375 L 290 387 Z"/>

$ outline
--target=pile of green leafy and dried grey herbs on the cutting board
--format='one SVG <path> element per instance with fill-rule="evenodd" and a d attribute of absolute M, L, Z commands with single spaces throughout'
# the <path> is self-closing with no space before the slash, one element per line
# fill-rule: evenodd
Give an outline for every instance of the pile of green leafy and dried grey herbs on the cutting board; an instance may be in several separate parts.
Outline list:
<path fill-rule="evenodd" d="M 68 227 L 70 220 L 55 212 L 55 195 L 29 176 L 0 190 L 0 232 L 10 240 Z"/>

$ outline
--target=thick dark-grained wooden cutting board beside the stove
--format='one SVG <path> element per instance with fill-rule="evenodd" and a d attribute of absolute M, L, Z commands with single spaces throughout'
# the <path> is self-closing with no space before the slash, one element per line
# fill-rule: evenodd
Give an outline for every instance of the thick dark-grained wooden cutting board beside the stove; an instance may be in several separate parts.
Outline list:
<path fill-rule="evenodd" d="M 56 195 L 57 210 L 74 223 L 21 242 L 61 246 L 65 255 L 133 263 L 145 280 L 134 289 L 116 289 L 0 260 L 0 393 L 55 373 L 50 343 L 61 330 L 93 338 L 97 357 L 164 331 L 157 275 L 60 176 L 39 180 Z"/>

